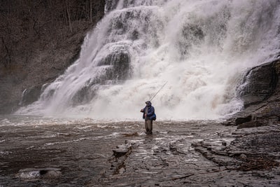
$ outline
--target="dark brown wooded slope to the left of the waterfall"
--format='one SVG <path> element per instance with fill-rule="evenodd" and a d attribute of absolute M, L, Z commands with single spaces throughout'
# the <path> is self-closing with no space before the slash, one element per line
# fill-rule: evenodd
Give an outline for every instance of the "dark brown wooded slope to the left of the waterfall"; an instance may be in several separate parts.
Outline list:
<path fill-rule="evenodd" d="M 104 6 L 105 0 L 0 2 L 0 113 L 36 101 L 42 86 L 64 73 Z"/>

